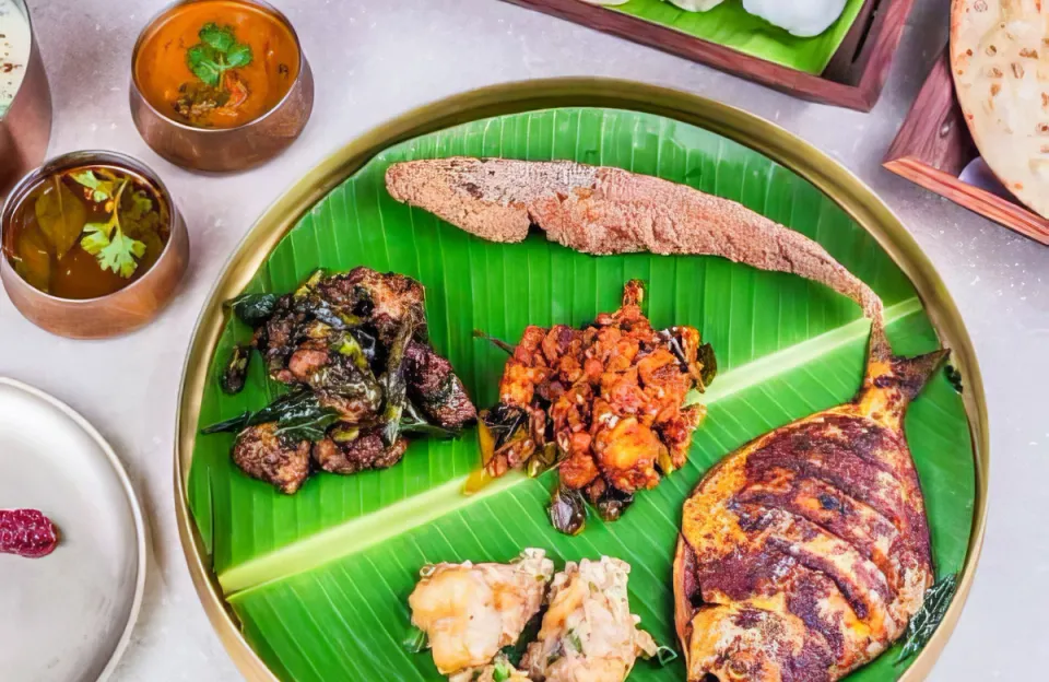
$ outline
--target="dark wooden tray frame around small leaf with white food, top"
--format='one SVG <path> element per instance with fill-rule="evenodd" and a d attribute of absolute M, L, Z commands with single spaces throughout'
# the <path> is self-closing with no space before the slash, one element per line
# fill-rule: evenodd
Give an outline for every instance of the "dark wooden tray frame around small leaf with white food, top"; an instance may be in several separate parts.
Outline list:
<path fill-rule="evenodd" d="M 804 73 L 582 0 L 507 0 L 823 104 L 870 111 L 914 0 L 867 0 L 821 75 Z"/>

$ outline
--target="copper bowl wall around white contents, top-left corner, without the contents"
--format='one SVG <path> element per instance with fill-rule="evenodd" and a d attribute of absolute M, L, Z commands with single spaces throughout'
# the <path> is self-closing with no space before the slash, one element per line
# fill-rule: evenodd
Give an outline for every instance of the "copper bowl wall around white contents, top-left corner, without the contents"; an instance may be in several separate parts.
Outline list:
<path fill-rule="evenodd" d="M 33 33 L 30 10 L 14 0 L 30 25 L 30 60 L 7 114 L 0 117 L 0 199 L 11 185 L 42 161 L 51 137 L 51 92 Z"/>

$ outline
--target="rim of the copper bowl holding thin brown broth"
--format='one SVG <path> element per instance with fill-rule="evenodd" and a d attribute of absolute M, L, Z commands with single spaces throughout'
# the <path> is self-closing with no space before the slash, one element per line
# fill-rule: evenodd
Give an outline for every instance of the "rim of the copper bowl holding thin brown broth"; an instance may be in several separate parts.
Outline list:
<path fill-rule="evenodd" d="M 102 161 L 99 161 L 102 160 Z M 107 298 L 113 298 L 129 292 L 138 287 L 140 284 L 145 282 L 146 278 L 150 277 L 152 272 L 156 270 L 157 263 L 168 255 L 172 250 L 172 243 L 175 242 L 174 235 L 175 230 L 178 226 L 178 223 L 182 220 L 181 213 L 178 210 L 178 207 L 175 205 L 175 198 L 172 196 L 170 190 L 167 189 L 167 186 L 164 184 L 164 180 L 161 179 L 161 176 L 156 174 L 152 168 L 145 165 L 143 162 L 139 161 L 133 156 L 128 154 L 122 154 L 120 152 L 111 152 L 108 150 L 82 150 L 79 152 L 67 152 L 64 154 L 59 154 L 54 158 L 49 158 L 40 164 L 38 167 L 33 168 L 25 175 L 23 175 L 17 183 L 11 188 L 11 191 L 8 192 L 7 200 L 3 202 L 3 207 L 0 208 L 0 268 L 8 267 L 12 270 L 14 269 L 5 252 L 3 252 L 3 234 L 4 227 L 11 221 L 11 216 L 14 213 L 16 207 L 22 204 L 22 200 L 25 199 L 30 192 L 36 188 L 37 184 L 46 177 L 64 170 L 68 168 L 73 168 L 76 166 L 91 165 L 91 162 L 94 162 L 99 165 L 114 165 L 122 167 L 126 170 L 143 176 L 151 184 L 156 187 L 156 190 L 160 192 L 161 198 L 167 202 L 168 215 L 167 215 L 167 228 L 168 237 L 167 242 L 164 243 L 164 248 L 161 249 L 161 252 L 156 256 L 156 260 L 153 261 L 153 264 L 142 273 L 142 277 L 131 282 L 127 286 L 122 286 L 115 292 L 108 293 L 105 296 L 95 296 L 94 298 L 62 298 L 61 296 L 55 296 L 54 294 L 48 294 L 47 292 L 42 292 L 36 289 L 24 279 L 22 275 L 15 274 L 19 281 L 25 284 L 30 290 L 33 291 L 33 294 L 42 298 L 54 301 L 62 305 L 70 306 L 80 306 L 87 305 L 92 303 L 97 303 L 99 301 L 105 301 Z"/>

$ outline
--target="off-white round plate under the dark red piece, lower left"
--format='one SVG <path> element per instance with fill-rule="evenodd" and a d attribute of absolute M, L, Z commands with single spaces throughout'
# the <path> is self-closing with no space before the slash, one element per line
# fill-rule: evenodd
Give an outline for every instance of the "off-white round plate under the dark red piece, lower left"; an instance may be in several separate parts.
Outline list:
<path fill-rule="evenodd" d="M 60 542 L 43 558 L 0 554 L 0 679 L 105 679 L 145 585 L 139 501 L 91 424 L 0 377 L 0 508 L 19 507 L 50 517 Z"/>

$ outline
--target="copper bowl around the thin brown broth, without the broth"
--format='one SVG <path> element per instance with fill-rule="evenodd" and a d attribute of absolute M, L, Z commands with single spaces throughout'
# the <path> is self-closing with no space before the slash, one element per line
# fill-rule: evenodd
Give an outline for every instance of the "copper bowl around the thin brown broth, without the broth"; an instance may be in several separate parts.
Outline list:
<path fill-rule="evenodd" d="M 150 322 L 174 297 L 189 264 L 189 235 L 172 193 L 153 170 L 141 162 L 115 152 L 72 152 L 47 162 L 23 177 L 0 211 L 0 243 L 22 201 L 39 183 L 55 173 L 85 165 L 109 165 L 146 179 L 169 208 L 169 236 L 156 262 L 123 289 L 97 298 L 59 298 L 34 289 L 0 254 L 0 282 L 14 307 L 31 322 L 71 339 L 105 339 L 133 331 Z"/>

